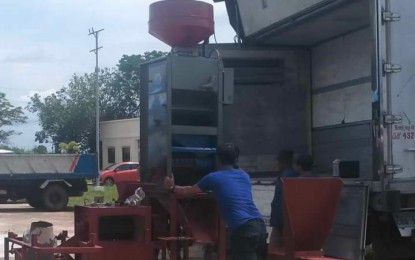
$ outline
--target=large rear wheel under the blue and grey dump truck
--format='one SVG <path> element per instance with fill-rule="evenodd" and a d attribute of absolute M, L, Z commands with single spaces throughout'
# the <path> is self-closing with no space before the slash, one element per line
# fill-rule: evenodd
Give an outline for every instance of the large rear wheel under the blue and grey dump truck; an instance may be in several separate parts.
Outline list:
<path fill-rule="evenodd" d="M 60 211 L 68 205 L 68 191 L 61 185 L 49 185 L 42 194 L 42 201 L 47 210 Z"/>

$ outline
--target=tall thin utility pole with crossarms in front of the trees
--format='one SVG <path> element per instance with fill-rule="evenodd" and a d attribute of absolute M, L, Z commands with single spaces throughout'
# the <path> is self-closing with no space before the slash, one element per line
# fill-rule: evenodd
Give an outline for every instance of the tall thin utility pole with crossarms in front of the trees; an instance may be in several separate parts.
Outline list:
<path fill-rule="evenodd" d="M 95 37 L 95 49 L 89 52 L 95 53 L 95 131 L 96 131 L 96 155 L 97 155 L 97 169 L 100 168 L 100 152 L 99 152 L 99 67 L 98 67 L 98 51 L 102 49 L 102 46 L 98 45 L 98 36 L 104 29 L 95 31 L 94 28 L 89 29 L 88 35 Z M 99 176 L 96 180 L 96 186 L 99 186 Z"/>

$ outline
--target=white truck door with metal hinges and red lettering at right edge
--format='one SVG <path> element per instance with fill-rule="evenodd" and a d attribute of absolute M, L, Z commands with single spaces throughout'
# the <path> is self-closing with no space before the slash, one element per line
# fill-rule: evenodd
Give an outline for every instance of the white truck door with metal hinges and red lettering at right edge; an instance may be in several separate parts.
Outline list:
<path fill-rule="evenodd" d="M 386 171 L 415 180 L 415 1 L 380 0 L 377 10 Z"/>

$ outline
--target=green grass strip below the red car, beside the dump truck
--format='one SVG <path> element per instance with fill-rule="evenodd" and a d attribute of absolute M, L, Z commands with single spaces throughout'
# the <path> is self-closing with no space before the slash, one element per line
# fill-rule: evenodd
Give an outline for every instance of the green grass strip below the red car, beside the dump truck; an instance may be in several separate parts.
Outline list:
<path fill-rule="evenodd" d="M 118 199 L 117 187 L 104 186 L 104 192 L 94 191 L 94 186 L 88 185 L 88 191 L 84 193 L 82 197 L 71 197 L 69 198 L 68 207 L 83 206 L 94 202 L 94 197 L 104 196 L 104 203 L 112 202 Z"/>

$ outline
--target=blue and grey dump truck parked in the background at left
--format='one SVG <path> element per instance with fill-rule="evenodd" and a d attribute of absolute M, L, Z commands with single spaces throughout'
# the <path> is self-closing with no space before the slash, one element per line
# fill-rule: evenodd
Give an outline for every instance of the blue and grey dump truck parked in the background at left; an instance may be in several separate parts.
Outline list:
<path fill-rule="evenodd" d="M 36 209 L 60 211 L 97 176 L 91 154 L 1 154 L 0 202 L 25 199 Z"/>

